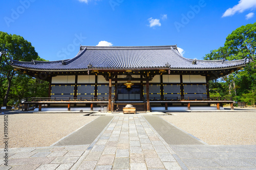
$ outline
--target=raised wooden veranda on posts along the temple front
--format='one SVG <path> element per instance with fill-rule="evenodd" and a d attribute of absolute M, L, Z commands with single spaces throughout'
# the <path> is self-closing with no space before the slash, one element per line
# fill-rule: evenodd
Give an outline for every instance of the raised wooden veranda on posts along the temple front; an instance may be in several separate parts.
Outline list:
<path fill-rule="evenodd" d="M 139 101 L 122 101 L 123 104 L 126 103 L 138 103 Z M 169 105 L 181 104 L 182 106 L 186 105 L 187 110 L 190 110 L 191 104 L 216 104 L 217 110 L 220 110 L 220 107 L 223 104 L 230 104 L 230 109 L 233 110 L 233 103 L 231 97 L 216 97 L 216 98 L 189 98 L 189 97 L 177 97 L 177 98 L 149 98 L 147 101 L 143 98 L 141 101 L 144 105 L 144 111 L 151 111 L 151 104 L 162 104 L 165 106 L 165 111 L 168 110 Z M 105 104 L 108 105 L 109 111 L 114 111 L 115 109 L 115 98 L 26 98 L 22 103 L 23 111 L 28 111 L 30 105 L 38 107 L 38 111 L 41 111 L 42 105 L 51 105 L 51 104 L 67 104 L 67 110 L 71 110 L 71 105 L 74 107 L 76 104 L 90 104 L 91 111 L 94 110 L 94 104 Z"/>

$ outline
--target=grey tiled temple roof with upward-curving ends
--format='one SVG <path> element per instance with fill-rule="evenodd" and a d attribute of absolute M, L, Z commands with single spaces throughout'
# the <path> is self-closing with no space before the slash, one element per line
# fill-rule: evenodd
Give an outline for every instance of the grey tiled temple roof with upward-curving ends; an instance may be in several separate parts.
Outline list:
<path fill-rule="evenodd" d="M 33 70 L 87 69 L 224 69 L 243 66 L 247 60 L 197 60 L 182 57 L 176 45 L 80 46 L 77 56 L 59 61 L 12 61 L 13 67 Z"/>

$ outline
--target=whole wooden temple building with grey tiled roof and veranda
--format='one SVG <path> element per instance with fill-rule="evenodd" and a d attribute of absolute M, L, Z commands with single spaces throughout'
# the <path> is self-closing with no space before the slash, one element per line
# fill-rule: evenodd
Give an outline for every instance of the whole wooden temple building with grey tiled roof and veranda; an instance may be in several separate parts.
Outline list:
<path fill-rule="evenodd" d="M 137 111 L 209 107 L 230 103 L 210 98 L 208 81 L 241 69 L 248 60 L 194 60 L 180 55 L 177 45 L 80 46 L 78 54 L 60 61 L 12 61 L 24 74 L 50 82 L 49 98 L 26 104 L 119 111 L 132 104 Z"/>

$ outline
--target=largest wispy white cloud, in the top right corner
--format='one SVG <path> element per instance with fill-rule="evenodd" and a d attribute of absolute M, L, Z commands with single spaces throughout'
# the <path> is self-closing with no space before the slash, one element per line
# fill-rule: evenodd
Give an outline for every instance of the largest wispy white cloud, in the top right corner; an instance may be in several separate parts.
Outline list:
<path fill-rule="evenodd" d="M 224 14 L 222 15 L 222 17 L 226 17 L 226 16 L 232 16 L 234 14 L 236 14 L 237 12 L 242 13 L 245 10 L 249 10 L 249 9 L 255 9 L 256 8 L 256 1 L 255 0 L 240 0 L 238 2 L 238 5 L 233 6 L 232 8 L 228 8 Z"/>

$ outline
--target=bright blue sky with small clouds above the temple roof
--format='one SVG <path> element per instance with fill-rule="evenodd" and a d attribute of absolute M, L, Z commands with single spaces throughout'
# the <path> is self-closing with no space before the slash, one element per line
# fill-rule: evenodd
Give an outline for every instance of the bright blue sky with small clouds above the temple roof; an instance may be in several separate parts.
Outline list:
<path fill-rule="evenodd" d="M 23 36 L 49 61 L 75 57 L 80 44 L 177 44 L 184 57 L 202 59 L 233 30 L 256 21 L 255 0 L 20 0 L 0 6 L 0 31 Z"/>

